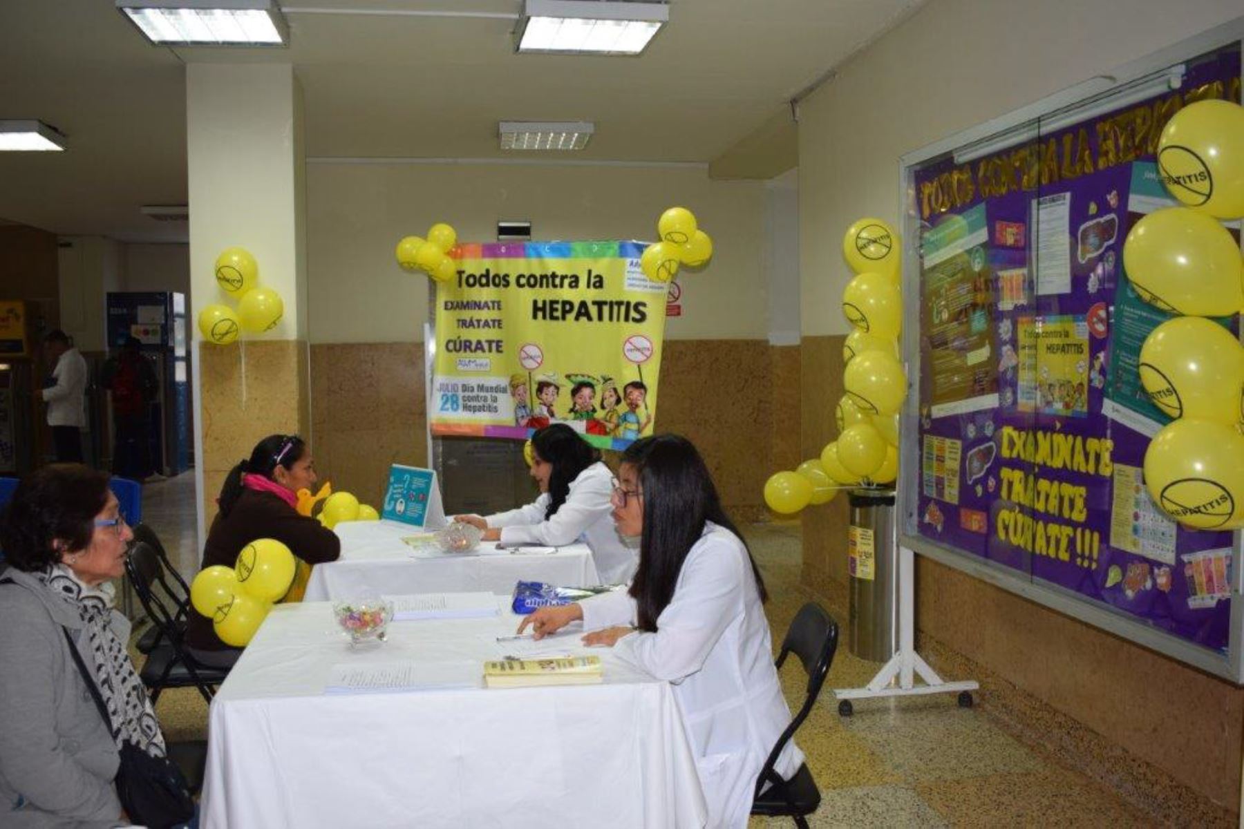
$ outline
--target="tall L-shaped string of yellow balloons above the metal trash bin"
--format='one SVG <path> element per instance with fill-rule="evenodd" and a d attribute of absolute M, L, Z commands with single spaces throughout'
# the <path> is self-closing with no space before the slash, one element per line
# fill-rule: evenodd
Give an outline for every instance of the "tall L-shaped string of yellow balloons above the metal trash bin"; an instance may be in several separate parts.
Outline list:
<path fill-rule="evenodd" d="M 765 482 L 765 503 L 774 512 L 792 515 L 810 503 L 827 503 L 838 488 L 882 486 L 898 477 L 898 409 L 907 396 L 898 358 L 898 234 L 881 219 L 861 219 L 847 229 L 842 255 L 856 276 L 842 292 L 842 313 L 852 331 L 842 346 L 846 394 L 833 413 L 838 439 L 820 457 Z"/>

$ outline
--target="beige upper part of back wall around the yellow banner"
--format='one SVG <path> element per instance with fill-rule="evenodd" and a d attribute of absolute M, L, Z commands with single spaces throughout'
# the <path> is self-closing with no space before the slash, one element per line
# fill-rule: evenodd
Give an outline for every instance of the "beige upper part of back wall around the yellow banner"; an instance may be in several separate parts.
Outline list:
<path fill-rule="evenodd" d="M 428 280 L 393 249 L 437 221 L 493 241 L 496 221 L 531 221 L 539 240 L 653 239 L 666 208 L 692 209 L 714 241 L 687 275 L 667 339 L 765 339 L 764 185 L 712 181 L 702 167 L 350 164 L 307 167 L 309 334 L 312 343 L 419 342 Z"/>

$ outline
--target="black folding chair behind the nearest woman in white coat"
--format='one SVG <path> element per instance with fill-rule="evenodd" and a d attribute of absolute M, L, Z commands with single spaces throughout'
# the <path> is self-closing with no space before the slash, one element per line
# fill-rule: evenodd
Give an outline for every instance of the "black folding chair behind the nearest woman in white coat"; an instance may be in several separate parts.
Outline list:
<path fill-rule="evenodd" d="M 811 712 L 816 697 L 821 694 L 821 686 L 825 685 L 825 676 L 830 672 L 833 653 L 837 649 L 838 623 L 815 602 L 809 602 L 800 608 L 799 613 L 795 614 L 795 620 L 790 623 L 790 630 L 786 631 L 776 665 L 780 669 L 786 661 L 787 654 L 799 656 L 804 670 L 807 671 L 807 698 L 804 700 L 804 707 L 781 732 L 774 749 L 769 752 L 769 759 L 760 769 L 760 776 L 756 778 L 756 793 L 751 802 L 751 814 L 794 818 L 799 829 L 807 829 L 805 818 L 816 812 L 816 807 L 821 804 L 821 792 L 816 788 L 812 773 L 807 771 L 807 763 L 800 766 L 789 781 L 784 781 L 774 771 L 774 764 L 786 743 L 795 736 L 795 731 Z"/>

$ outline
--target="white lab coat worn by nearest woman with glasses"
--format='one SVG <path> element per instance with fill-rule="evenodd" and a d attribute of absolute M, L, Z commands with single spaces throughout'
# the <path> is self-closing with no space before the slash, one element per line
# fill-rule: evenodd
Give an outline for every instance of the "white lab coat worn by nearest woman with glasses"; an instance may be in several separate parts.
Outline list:
<path fill-rule="evenodd" d="M 583 629 L 629 625 L 636 602 L 626 590 L 585 599 Z M 668 680 L 695 753 L 708 825 L 748 825 L 760 768 L 790 725 L 774 669 L 769 621 L 738 536 L 708 523 L 683 562 L 657 633 L 633 633 L 613 646 L 627 662 Z M 778 758 L 784 778 L 804 753 L 794 741 Z"/>

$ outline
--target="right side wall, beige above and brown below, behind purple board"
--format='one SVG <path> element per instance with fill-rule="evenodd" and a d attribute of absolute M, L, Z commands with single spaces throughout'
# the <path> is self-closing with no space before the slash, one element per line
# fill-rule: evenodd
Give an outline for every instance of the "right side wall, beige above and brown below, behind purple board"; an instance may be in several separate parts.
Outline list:
<path fill-rule="evenodd" d="M 802 322 L 805 454 L 827 439 L 822 406 L 841 383 L 826 337 L 846 332 L 826 312 L 848 276 L 838 240 L 861 215 L 897 220 L 899 155 L 1240 14 L 1239 0 L 931 0 L 804 103 L 801 300 L 820 309 Z M 805 580 L 816 589 L 845 578 L 842 518 L 805 517 Z M 948 568 L 922 561 L 917 580 L 924 634 L 1239 808 L 1244 691 Z M 1173 735 L 1176 710 L 1205 716 L 1181 718 Z"/>

